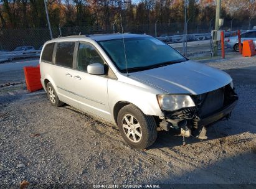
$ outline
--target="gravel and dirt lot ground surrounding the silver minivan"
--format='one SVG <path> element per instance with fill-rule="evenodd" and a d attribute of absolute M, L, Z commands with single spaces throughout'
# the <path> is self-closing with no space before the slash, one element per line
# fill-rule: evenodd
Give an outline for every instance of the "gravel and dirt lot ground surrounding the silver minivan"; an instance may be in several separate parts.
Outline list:
<path fill-rule="evenodd" d="M 0 88 L 1 185 L 27 180 L 41 185 L 218 183 L 256 187 L 256 57 L 201 62 L 234 78 L 239 103 L 229 121 L 209 127 L 209 139 L 187 138 L 186 146 L 173 132 L 159 132 L 150 149 L 131 149 L 115 126 L 67 105 L 50 106 L 42 90 L 28 93 L 24 84 Z"/>

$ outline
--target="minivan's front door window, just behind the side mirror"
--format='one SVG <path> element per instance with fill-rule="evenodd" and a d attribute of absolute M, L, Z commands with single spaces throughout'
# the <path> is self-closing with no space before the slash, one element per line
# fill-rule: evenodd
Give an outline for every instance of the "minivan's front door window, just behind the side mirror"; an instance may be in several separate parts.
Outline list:
<path fill-rule="evenodd" d="M 104 65 L 104 61 L 95 47 L 80 43 L 77 52 L 77 70 L 87 71 L 87 66 L 92 63 L 102 63 Z"/>

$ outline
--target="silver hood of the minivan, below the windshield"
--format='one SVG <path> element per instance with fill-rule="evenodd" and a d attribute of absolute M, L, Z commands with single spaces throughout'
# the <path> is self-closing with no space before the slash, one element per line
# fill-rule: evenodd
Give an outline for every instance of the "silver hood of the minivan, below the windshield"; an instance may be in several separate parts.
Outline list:
<path fill-rule="evenodd" d="M 224 71 L 191 60 L 129 75 L 134 80 L 153 85 L 170 94 L 207 93 L 232 81 Z"/>

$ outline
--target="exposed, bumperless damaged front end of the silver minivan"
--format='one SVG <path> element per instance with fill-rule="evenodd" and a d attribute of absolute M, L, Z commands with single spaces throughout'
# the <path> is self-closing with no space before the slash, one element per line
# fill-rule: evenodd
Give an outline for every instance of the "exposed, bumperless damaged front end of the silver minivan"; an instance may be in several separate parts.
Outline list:
<path fill-rule="evenodd" d="M 228 119 L 237 104 L 238 96 L 230 85 L 208 93 L 191 95 L 195 107 L 178 111 L 165 111 L 159 126 L 166 131 L 172 127 L 181 129 L 184 136 L 206 139 L 206 126 L 222 119 Z"/>

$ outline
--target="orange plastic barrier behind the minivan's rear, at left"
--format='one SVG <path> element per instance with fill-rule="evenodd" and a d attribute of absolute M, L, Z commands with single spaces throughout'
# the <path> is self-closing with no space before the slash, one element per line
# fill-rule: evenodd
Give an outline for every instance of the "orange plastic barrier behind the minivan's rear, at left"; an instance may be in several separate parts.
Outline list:
<path fill-rule="evenodd" d="M 24 67 L 25 80 L 27 85 L 27 90 L 33 92 L 40 90 L 42 84 L 40 82 L 40 67 Z"/>

